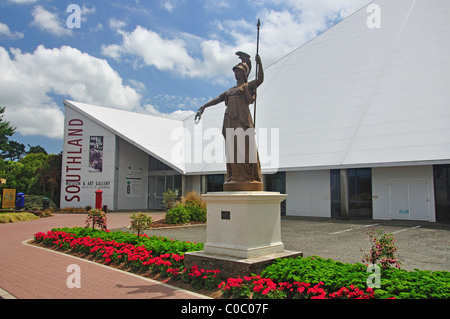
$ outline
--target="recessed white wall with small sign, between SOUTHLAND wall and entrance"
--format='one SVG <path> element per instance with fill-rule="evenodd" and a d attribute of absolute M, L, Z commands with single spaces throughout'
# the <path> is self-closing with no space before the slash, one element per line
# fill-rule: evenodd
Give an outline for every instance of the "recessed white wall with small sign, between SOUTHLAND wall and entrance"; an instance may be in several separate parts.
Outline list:
<path fill-rule="evenodd" d="M 121 138 L 118 148 L 117 209 L 147 209 L 149 155 Z"/>

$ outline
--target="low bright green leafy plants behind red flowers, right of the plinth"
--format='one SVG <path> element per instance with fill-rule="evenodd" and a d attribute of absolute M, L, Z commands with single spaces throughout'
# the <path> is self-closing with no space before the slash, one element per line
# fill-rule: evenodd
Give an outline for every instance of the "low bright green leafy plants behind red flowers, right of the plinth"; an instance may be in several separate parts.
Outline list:
<path fill-rule="evenodd" d="M 375 298 L 387 299 L 448 299 L 450 298 L 450 272 L 406 271 L 388 268 L 381 270 L 381 287 L 375 289 Z M 317 256 L 279 259 L 268 266 L 261 276 L 276 282 L 323 282 L 327 291 L 353 285 L 367 287 L 366 265 L 347 264 Z"/>

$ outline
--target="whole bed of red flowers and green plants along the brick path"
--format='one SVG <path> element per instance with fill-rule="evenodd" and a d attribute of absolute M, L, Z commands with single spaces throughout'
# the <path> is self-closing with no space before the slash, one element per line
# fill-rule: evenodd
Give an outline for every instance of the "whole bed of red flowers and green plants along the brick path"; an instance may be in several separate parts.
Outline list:
<path fill-rule="evenodd" d="M 275 261 L 259 276 L 219 278 L 219 270 L 184 267 L 184 253 L 203 244 L 164 237 L 62 228 L 35 234 L 41 245 L 82 254 L 112 266 L 160 275 L 195 289 L 219 290 L 224 298 L 372 299 L 450 298 L 450 273 L 383 269 L 381 289 L 366 288 L 366 265 L 319 257 Z"/>

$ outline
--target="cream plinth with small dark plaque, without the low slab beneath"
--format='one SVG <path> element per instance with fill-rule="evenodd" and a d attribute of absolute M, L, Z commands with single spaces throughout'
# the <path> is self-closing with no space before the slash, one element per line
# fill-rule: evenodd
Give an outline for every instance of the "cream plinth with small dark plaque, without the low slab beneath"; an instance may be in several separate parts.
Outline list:
<path fill-rule="evenodd" d="M 207 205 L 206 243 L 210 255 L 254 258 L 281 253 L 280 203 L 276 192 L 217 192 Z"/>

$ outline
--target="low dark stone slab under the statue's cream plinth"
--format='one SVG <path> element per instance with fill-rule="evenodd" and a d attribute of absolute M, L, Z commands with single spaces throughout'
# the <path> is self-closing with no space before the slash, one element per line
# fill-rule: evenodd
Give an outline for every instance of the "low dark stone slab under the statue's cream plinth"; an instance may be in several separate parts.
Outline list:
<path fill-rule="evenodd" d="M 237 276 L 243 277 L 260 274 L 264 268 L 278 258 L 294 258 L 298 256 L 303 256 L 303 253 L 285 250 L 281 253 L 261 257 L 239 259 L 228 256 L 210 255 L 204 251 L 198 251 L 185 253 L 184 264 L 187 269 L 190 269 L 194 264 L 203 269 L 218 269 L 220 270 L 220 277 L 227 279 L 236 278 Z"/>

